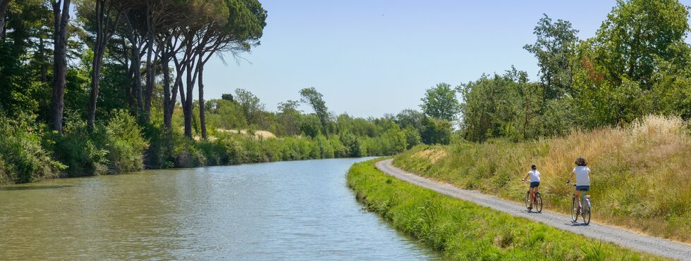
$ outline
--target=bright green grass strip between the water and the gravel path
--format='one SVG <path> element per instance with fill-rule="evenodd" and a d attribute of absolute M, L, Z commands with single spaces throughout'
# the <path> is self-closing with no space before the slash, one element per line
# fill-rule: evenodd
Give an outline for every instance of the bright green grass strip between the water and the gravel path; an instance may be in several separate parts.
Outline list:
<path fill-rule="evenodd" d="M 374 167 L 353 165 L 348 186 L 377 212 L 453 260 L 655 260 L 646 253 L 593 241 L 545 224 L 408 184 Z"/>

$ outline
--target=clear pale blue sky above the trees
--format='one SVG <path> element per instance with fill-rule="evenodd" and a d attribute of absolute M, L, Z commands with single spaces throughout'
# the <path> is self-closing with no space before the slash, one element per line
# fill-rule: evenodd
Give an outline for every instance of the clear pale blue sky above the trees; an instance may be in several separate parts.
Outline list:
<path fill-rule="evenodd" d="M 542 13 L 569 20 L 585 39 L 616 3 L 260 1 L 269 12 L 261 46 L 243 54 L 250 63 L 209 61 L 205 98 L 243 88 L 276 110 L 276 103 L 314 87 L 329 110 L 358 117 L 419 109 L 424 90 L 439 82 L 456 86 L 510 65 L 535 80 L 537 61 L 522 46 L 534 42 Z"/>

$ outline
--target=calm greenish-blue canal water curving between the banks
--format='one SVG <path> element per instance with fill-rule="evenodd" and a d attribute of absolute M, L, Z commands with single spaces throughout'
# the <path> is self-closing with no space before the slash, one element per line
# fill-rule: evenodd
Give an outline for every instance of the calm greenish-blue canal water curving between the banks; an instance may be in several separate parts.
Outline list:
<path fill-rule="evenodd" d="M 0 260 L 429 260 L 307 160 L 0 187 Z"/>

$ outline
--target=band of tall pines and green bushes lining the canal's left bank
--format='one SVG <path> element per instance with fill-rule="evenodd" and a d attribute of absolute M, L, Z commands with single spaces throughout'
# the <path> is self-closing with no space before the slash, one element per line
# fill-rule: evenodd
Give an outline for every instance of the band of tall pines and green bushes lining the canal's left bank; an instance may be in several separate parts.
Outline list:
<path fill-rule="evenodd" d="M 451 135 L 417 110 L 337 115 L 315 88 L 276 110 L 245 89 L 204 98 L 210 57 L 259 44 L 256 0 L 0 0 L 0 18 L 0 184 L 393 155 Z"/>

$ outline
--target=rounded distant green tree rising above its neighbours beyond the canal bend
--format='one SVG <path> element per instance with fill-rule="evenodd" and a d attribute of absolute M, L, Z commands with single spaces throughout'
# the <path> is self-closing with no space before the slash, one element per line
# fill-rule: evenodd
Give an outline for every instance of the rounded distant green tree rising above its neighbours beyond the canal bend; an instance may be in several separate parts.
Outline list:
<path fill-rule="evenodd" d="M 429 117 L 453 121 L 460 111 L 455 90 L 451 89 L 451 85 L 444 82 L 427 89 L 424 97 L 420 100 L 422 101 L 420 108 Z"/>

